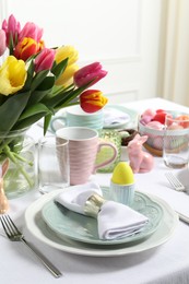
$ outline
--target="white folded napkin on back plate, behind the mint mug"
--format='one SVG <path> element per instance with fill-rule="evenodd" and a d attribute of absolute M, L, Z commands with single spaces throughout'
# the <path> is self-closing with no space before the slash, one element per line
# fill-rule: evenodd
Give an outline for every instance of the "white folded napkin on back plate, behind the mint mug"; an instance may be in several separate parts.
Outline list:
<path fill-rule="evenodd" d="M 114 108 L 105 108 L 104 110 L 104 126 L 114 126 L 116 123 L 127 123 L 130 116 L 121 110 Z"/>

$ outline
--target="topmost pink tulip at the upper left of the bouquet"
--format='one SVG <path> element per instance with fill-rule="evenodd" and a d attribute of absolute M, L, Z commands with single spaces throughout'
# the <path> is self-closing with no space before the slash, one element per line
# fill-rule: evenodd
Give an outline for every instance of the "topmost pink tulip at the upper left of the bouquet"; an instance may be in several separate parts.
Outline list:
<path fill-rule="evenodd" d="M 10 15 L 9 20 L 4 20 L 2 22 L 2 29 L 5 32 L 7 35 L 7 46 L 10 46 L 10 39 L 12 37 L 13 46 L 17 44 L 17 35 L 21 31 L 21 24 L 19 21 L 15 20 L 14 15 Z"/>

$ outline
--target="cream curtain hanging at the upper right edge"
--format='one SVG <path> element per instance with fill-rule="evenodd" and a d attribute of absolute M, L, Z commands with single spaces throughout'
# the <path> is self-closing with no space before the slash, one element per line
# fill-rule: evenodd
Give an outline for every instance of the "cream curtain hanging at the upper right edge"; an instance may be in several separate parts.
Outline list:
<path fill-rule="evenodd" d="M 189 106 L 189 1 L 163 1 L 158 94 Z M 163 44 L 164 43 L 164 44 Z"/>

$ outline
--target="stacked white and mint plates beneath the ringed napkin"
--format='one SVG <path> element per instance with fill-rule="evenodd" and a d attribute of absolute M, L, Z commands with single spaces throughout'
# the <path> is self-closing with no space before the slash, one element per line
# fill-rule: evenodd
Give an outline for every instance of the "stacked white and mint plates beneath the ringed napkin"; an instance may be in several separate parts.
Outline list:
<path fill-rule="evenodd" d="M 102 189 L 108 199 L 108 188 Z M 36 238 L 70 253 L 115 257 L 144 251 L 168 240 L 178 224 L 177 214 L 166 202 L 137 191 L 132 208 L 150 220 L 144 230 L 127 238 L 101 240 L 95 218 L 71 212 L 54 202 L 60 192 L 55 190 L 34 202 L 25 212 L 25 221 L 27 229 Z"/>

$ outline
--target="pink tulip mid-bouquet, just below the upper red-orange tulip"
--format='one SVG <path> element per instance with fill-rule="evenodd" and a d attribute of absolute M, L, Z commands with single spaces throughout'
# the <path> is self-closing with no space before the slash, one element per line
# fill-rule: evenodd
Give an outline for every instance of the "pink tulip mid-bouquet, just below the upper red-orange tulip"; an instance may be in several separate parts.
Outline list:
<path fill-rule="evenodd" d="M 55 50 L 44 48 L 35 59 L 35 72 L 38 73 L 43 70 L 50 70 L 55 60 Z"/>

